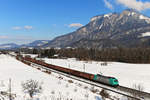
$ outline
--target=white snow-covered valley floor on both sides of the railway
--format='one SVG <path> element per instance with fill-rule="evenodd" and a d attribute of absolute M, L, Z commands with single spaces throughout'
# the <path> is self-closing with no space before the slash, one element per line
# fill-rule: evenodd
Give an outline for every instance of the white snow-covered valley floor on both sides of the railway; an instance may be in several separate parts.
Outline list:
<path fill-rule="evenodd" d="M 44 58 L 44 60 L 50 64 L 84 72 L 114 76 L 119 80 L 120 85 L 127 87 L 132 87 L 133 84 L 141 84 L 141 86 L 144 87 L 144 91 L 150 92 L 149 64 L 107 62 L 107 65 L 103 65 L 103 62 L 77 61 L 74 58 Z M 59 77 L 63 76 L 54 73 L 49 75 L 25 65 L 8 55 L 0 55 L 0 91 L 8 92 L 9 79 L 11 79 L 12 93 L 17 96 L 14 100 L 29 100 L 29 96 L 27 93 L 22 92 L 21 87 L 21 83 L 29 79 L 38 80 L 43 83 L 43 92 L 35 95 L 35 100 L 57 100 L 58 98 L 63 98 L 62 100 L 66 100 L 67 98 L 72 100 L 101 100 L 100 95 L 91 92 L 92 86 L 75 80 L 72 80 L 73 83 L 69 83 L 68 80 L 71 79 L 66 77 L 60 79 Z M 101 91 L 101 89 L 99 89 L 99 91 Z M 122 96 L 114 93 L 110 93 L 110 95 L 122 98 Z M 8 100 L 8 98 L 5 100 Z"/>

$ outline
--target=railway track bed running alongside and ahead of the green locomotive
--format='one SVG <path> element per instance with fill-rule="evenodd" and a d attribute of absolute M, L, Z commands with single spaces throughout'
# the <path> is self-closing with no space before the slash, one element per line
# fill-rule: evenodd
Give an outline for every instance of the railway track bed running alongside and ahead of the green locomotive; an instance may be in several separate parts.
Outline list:
<path fill-rule="evenodd" d="M 42 69 L 45 69 L 45 70 L 48 70 L 48 71 L 51 71 L 51 72 L 54 72 L 54 73 L 66 76 L 68 78 L 71 78 L 71 79 L 74 79 L 74 80 L 77 80 L 77 81 L 80 81 L 80 82 L 84 82 L 84 83 L 93 85 L 95 87 L 103 88 L 105 90 L 108 90 L 108 91 L 111 91 L 111 92 L 114 92 L 114 93 L 126 96 L 128 98 L 131 98 L 133 100 L 142 100 L 140 97 L 144 97 L 144 100 L 150 100 L 150 93 L 138 91 L 138 90 L 135 90 L 135 89 L 124 87 L 124 86 L 118 86 L 118 87 L 107 86 L 107 85 L 100 84 L 100 83 L 97 83 L 97 82 L 93 82 L 93 81 L 90 81 L 90 80 L 87 80 L 87 79 L 83 79 L 83 78 L 80 78 L 80 77 L 72 76 L 72 75 L 69 75 L 69 74 L 66 74 L 66 73 L 63 73 L 63 72 L 60 72 L 60 71 L 56 71 L 54 69 L 50 69 L 50 68 L 47 68 L 45 66 L 38 65 L 38 64 L 29 62 L 29 61 L 27 61 L 27 62 L 31 63 L 31 66 L 36 66 L 38 68 L 42 68 Z M 133 96 L 132 95 L 133 93 L 136 94 L 136 96 Z"/>

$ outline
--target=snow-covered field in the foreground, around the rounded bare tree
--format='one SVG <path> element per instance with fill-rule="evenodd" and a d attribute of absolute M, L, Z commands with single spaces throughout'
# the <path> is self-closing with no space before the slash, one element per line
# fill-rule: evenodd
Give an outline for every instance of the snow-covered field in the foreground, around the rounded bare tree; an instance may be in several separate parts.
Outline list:
<path fill-rule="evenodd" d="M 60 97 L 61 100 L 101 100 L 100 95 L 89 90 L 91 86 L 83 83 L 79 86 L 77 81 L 68 83 L 67 78 L 60 80 L 58 77 L 59 75 L 54 73 L 43 73 L 10 56 L 0 55 L 0 91 L 8 91 L 11 79 L 12 93 L 17 95 L 15 100 L 27 100 L 28 96 L 22 92 L 21 83 L 29 79 L 43 83 L 43 92 L 37 95 L 40 99 L 36 100 L 58 100 Z M 86 86 L 88 88 L 85 89 Z"/>

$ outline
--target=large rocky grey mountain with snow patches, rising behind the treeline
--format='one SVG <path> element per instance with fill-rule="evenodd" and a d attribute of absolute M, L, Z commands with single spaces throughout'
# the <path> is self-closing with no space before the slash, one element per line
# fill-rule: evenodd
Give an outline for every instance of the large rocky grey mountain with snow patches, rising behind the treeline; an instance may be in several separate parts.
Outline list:
<path fill-rule="evenodd" d="M 116 48 L 148 45 L 150 18 L 134 10 L 110 13 L 91 18 L 75 32 L 56 37 L 45 47 Z"/>

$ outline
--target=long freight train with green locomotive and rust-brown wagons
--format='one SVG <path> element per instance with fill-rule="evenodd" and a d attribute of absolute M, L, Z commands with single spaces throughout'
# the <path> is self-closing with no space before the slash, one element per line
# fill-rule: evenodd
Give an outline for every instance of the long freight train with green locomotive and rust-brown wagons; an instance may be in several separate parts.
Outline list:
<path fill-rule="evenodd" d="M 73 69 L 68 69 L 68 68 L 64 68 L 64 67 L 60 67 L 60 66 L 56 66 L 56 65 L 52 65 L 52 64 L 47 64 L 43 61 L 39 61 L 39 60 L 35 60 L 31 57 L 22 57 L 22 56 L 16 56 L 16 58 L 22 62 L 26 62 L 27 64 L 29 64 L 29 62 L 32 63 L 36 63 L 42 66 L 45 66 L 47 68 L 50 69 L 54 69 L 57 71 L 61 71 L 63 73 L 67 73 L 73 76 L 77 76 L 80 78 L 84 78 L 84 79 L 88 79 L 90 81 L 94 81 L 94 82 L 98 82 L 101 84 L 105 84 L 105 85 L 109 85 L 109 86 L 118 86 L 119 82 L 115 77 L 108 77 L 108 76 L 103 76 L 100 74 L 90 74 L 90 73 L 86 73 L 86 72 L 81 72 L 81 71 L 77 71 L 77 70 L 73 70 Z"/>

